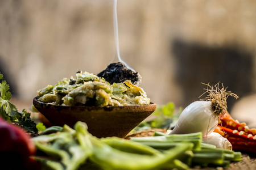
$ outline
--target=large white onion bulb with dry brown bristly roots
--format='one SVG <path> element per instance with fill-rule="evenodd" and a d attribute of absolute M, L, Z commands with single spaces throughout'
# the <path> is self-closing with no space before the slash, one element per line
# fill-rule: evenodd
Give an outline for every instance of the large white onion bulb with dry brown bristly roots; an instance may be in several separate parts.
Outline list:
<path fill-rule="evenodd" d="M 180 114 L 177 125 L 170 134 L 203 134 L 203 137 L 209 135 L 216 129 L 218 118 L 226 112 L 226 99 L 228 96 L 238 97 L 237 95 L 226 91 L 226 88 L 219 88 L 218 83 L 213 87 L 207 85 L 208 96 L 205 100 L 195 101 L 188 105 Z"/>

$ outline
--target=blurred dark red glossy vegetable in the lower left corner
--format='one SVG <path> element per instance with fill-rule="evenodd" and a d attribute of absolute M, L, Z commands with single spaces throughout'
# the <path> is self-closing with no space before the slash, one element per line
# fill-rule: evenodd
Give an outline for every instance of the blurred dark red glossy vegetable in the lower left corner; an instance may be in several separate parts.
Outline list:
<path fill-rule="evenodd" d="M 34 142 L 20 127 L 0 117 L 0 160 L 7 169 L 34 169 L 38 164 L 30 156 L 36 152 Z"/>

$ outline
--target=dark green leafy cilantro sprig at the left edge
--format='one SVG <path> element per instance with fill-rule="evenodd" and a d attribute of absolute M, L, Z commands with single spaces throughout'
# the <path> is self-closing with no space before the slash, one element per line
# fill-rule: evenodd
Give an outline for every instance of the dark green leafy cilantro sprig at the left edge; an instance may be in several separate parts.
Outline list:
<path fill-rule="evenodd" d="M 1 79 L 3 79 L 3 74 L 0 73 Z M 36 123 L 31 120 L 31 114 L 25 109 L 19 112 L 16 106 L 9 101 L 11 99 L 11 92 L 9 90 L 9 84 L 6 83 L 6 80 L 2 80 L 0 83 L 0 116 L 6 121 L 21 126 L 30 133 L 38 134 Z"/>

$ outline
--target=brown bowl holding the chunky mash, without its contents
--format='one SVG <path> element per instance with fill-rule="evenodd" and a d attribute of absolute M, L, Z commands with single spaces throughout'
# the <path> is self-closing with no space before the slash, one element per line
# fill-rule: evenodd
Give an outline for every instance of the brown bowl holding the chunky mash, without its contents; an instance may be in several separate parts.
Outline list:
<path fill-rule="evenodd" d="M 52 105 L 33 99 L 33 104 L 53 125 L 67 124 L 71 128 L 77 121 L 85 122 L 92 135 L 124 138 L 145 118 L 150 116 L 156 104 L 108 106 L 108 107 L 68 107 Z"/>

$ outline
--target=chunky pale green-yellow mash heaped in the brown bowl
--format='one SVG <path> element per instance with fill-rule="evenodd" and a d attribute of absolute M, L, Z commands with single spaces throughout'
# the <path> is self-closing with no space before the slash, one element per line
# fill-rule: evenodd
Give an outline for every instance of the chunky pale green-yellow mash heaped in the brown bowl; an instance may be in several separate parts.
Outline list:
<path fill-rule="evenodd" d="M 104 78 L 79 71 L 76 79 L 64 78 L 55 86 L 48 85 L 38 91 L 38 100 L 67 106 L 123 106 L 147 105 L 150 99 L 141 87 L 131 80 L 110 84 Z"/>

